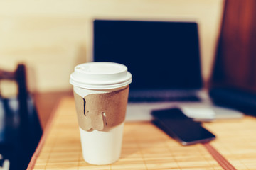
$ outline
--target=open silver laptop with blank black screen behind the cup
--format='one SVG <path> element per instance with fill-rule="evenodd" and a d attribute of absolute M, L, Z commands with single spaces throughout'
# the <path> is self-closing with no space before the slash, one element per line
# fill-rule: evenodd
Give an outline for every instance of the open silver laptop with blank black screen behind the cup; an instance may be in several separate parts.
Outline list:
<path fill-rule="evenodd" d="M 189 117 L 215 119 L 202 91 L 199 47 L 195 22 L 93 23 L 93 61 L 124 64 L 132 73 L 126 120 L 151 120 L 152 110 L 177 106 Z"/>

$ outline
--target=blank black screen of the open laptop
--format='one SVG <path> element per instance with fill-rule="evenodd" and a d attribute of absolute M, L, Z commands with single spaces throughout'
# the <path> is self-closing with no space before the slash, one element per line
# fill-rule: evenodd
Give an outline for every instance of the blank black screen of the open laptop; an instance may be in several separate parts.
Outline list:
<path fill-rule="evenodd" d="M 118 62 L 132 73 L 130 89 L 200 89 L 196 23 L 94 21 L 94 61 Z"/>

